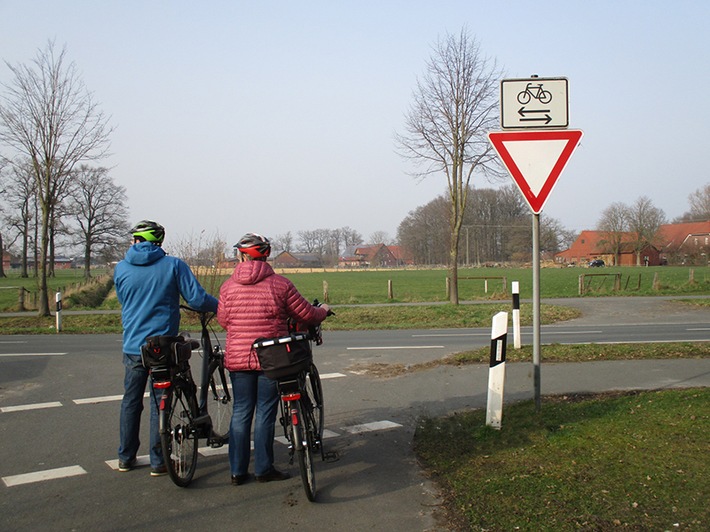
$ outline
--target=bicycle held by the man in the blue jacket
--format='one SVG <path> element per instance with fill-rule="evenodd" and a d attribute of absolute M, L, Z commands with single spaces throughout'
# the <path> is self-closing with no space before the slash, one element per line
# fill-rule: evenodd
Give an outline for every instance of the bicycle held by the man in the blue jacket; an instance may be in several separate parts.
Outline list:
<path fill-rule="evenodd" d="M 214 313 L 184 305 L 181 308 L 199 315 L 200 342 L 186 333 L 156 336 L 147 339 L 142 352 L 153 387 L 162 390 L 159 431 L 165 465 L 172 481 L 187 487 L 197 467 L 198 441 L 206 439 L 207 445 L 216 448 L 229 439 L 232 396 L 224 369 L 224 352 L 209 327 Z M 214 346 L 212 337 L 216 340 Z M 199 397 L 189 362 L 192 351 L 198 347 L 202 351 Z"/>

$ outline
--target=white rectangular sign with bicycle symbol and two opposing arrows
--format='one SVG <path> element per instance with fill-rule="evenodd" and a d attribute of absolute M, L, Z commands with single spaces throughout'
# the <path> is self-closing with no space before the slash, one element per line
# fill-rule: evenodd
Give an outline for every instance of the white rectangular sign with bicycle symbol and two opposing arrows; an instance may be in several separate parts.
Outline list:
<path fill-rule="evenodd" d="M 567 78 L 501 80 L 500 121 L 503 129 L 566 128 Z"/>

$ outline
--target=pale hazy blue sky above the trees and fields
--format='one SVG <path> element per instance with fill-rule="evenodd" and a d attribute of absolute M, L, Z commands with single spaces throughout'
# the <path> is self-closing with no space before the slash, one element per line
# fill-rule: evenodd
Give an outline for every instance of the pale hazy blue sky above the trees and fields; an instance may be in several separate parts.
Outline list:
<path fill-rule="evenodd" d="M 66 47 L 116 127 L 103 165 L 131 220 L 168 242 L 367 240 L 445 191 L 411 177 L 393 138 L 432 45 L 465 26 L 506 78 L 569 79 L 584 137 L 543 215 L 581 231 L 641 195 L 680 216 L 710 182 L 709 20 L 706 0 L 0 0 L 0 56 Z"/>

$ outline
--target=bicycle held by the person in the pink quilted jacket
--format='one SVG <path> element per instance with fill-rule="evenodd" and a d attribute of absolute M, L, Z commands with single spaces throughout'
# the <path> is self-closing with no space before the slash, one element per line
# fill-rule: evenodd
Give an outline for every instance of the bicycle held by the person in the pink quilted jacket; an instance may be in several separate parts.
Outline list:
<path fill-rule="evenodd" d="M 314 301 L 318 306 L 318 300 Z M 335 313 L 328 311 L 328 316 Z M 299 332 L 291 323 L 288 336 L 258 339 L 253 346 L 264 374 L 276 380 L 279 390 L 279 419 L 289 443 L 289 464 L 298 460 L 301 482 L 309 501 L 316 500 L 313 454 L 326 459 L 323 447 L 323 388 L 318 368 L 313 363 L 311 343 L 321 345 L 320 325 Z"/>

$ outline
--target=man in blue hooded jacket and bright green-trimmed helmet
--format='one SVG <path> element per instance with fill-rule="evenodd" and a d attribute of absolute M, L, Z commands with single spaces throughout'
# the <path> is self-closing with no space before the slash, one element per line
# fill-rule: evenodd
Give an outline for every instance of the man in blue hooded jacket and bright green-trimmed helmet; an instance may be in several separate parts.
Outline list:
<path fill-rule="evenodd" d="M 132 229 L 133 245 L 116 265 L 114 283 L 123 322 L 124 395 L 121 402 L 118 470 L 136 465 L 139 429 L 148 371 L 141 362 L 141 346 L 150 336 L 176 336 L 180 327 L 180 296 L 192 308 L 216 312 L 217 299 L 200 285 L 190 267 L 163 248 L 165 228 L 142 220 Z M 158 405 L 150 387 L 150 474 L 167 472 L 158 433 Z"/>

